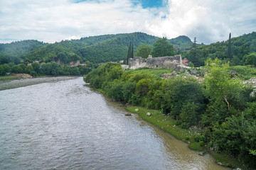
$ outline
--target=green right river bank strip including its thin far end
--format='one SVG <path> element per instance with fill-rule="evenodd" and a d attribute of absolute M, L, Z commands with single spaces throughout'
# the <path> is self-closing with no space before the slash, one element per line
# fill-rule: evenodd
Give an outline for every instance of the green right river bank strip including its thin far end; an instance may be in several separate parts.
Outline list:
<path fill-rule="evenodd" d="M 152 125 L 160 128 L 164 132 L 169 133 L 170 135 L 174 136 L 177 140 L 186 142 L 188 144 L 188 148 L 198 152 L 199 155 L 203 156 L 205 154 L 210 154 L 212 157 L 214 157 L 216 164 L 231 169 L 251 170 L 239 164 L 238 160 L 233 159 L 233 157 L 230 157 L 226 154 L 213 152 L 210 149 L 208 149 L 206 145 L 201 146 L 199 142 L 196 142 L 194 140 L 194 138 L 197 135 L 201 134 L 201 130 L 198 130 L 196 128 L 191 128 L 188 130 L 179 128 L 176 125 L 176 120 L 174 120 L 168 115 L 161 113 L 161 111 L 152 110 L 149 108 L 142 108 L 139 106 L 127 106 L 124 105 L 124 103 L 122 102 L 114 101 L 112 98 L 108 97 L 105 91 L 103 91 L 102 89 L 91 89 L 98 91 L 100 94 L 103 94 L 105 98 L 108 98 L 108 100 L 113 101 L 115 103 L 119 103 L 119 106 L 122 106 L 122 108 L 127 110 L 129 113 L 135 113 L 139 115 L 139 117 L 145 120 L 146 122 L 151 123 Z M 150 115 L 148 115 L 148 113 Z"/>

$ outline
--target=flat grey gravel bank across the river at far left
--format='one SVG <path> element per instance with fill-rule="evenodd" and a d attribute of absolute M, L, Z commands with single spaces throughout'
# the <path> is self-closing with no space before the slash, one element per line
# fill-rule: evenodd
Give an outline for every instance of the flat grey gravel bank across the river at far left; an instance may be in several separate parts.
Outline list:
<path fill-rule="evenodd" d="M 17 78 L 6 81 L 0 81 L 0 91 L 6 89 L 15 89 L 23 86 L 30 86 L 34 84 L 41 84 L 47 82 L 63 81 L 68 79 L 74 79 L 75 77 L 40 77 L 40 78 Z"/>

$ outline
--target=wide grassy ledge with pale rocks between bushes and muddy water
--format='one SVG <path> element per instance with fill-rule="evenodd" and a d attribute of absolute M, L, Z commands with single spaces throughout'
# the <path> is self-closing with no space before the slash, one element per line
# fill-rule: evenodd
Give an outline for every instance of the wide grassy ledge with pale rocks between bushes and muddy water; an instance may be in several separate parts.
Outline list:
<path fill-rule="evenodd" d="M 135 111 L 135 109 L 139 109 L 139 111 Z M 153 125 L 158 126 L 162 130 L 168 132 L 169 134 L 176 137 L 178 140 L 182 140 L 183 142 L 187 142 L 190 149 L 199 151 L 199 152 L 208 152 L 212 155 L 216 162 L 221 162 L 223 166 L 228 166 L 230 168 L 242 167 L 242 169 L 246 169 L 242 165 L 238 164 L 238 161 L 229 157 L 226 154 L 218 154 L 212 152 L 207 149 L 205 146 L 201 146 L 199 142 L 196 142 L 194 138 L 196 135 L 200 133 L 199 130 L 185 130 L 176 126 L 176 120 L 170 118 L 168 115 L 164 115 L 161 111 L 150 110 L 147 108 L 132 106 L 128 107 L 127 111 L 131 113 L 137 113 L 142 119 L 146 120 Z M 151 115 L 146 115 L 146 113 L 151 113 Z"/>

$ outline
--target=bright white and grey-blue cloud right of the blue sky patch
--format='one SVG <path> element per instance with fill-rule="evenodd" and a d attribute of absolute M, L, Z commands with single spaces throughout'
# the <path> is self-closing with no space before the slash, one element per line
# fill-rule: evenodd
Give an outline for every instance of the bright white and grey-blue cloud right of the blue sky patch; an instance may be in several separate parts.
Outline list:
<path fill-rule="evenodd" d="M 147 23 L 150 33 L 167 38 L 188 35 L 210 43 L 251 33 L 256 28 L 256 1 L 169 0 L 166 18 Z M 254 21 L 254 22 L 253 22 Z"/>

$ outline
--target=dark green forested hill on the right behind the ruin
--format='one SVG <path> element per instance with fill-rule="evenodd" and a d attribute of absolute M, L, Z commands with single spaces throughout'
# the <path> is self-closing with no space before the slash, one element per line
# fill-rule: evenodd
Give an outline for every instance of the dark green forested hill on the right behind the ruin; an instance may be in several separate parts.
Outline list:
<path fill-rule="evenodd" d="M 227 35 L 228 38 L 228 35 Z M 230 57 L 228 57 L 229 40 L 215 42 L 210 45 L 203 45 L 196 49 L 189 50 L 183 54 L 196 67 L 203 66 L 208 58 L 216 58 L 223 62 L 230 62 L 231 65 L 255 64 L 247 60 L 249 55 L 256 52 L 256 32 L 241 35 L 230 39 Z M 247 61 L 246 61 L 247 60 Z"/>

